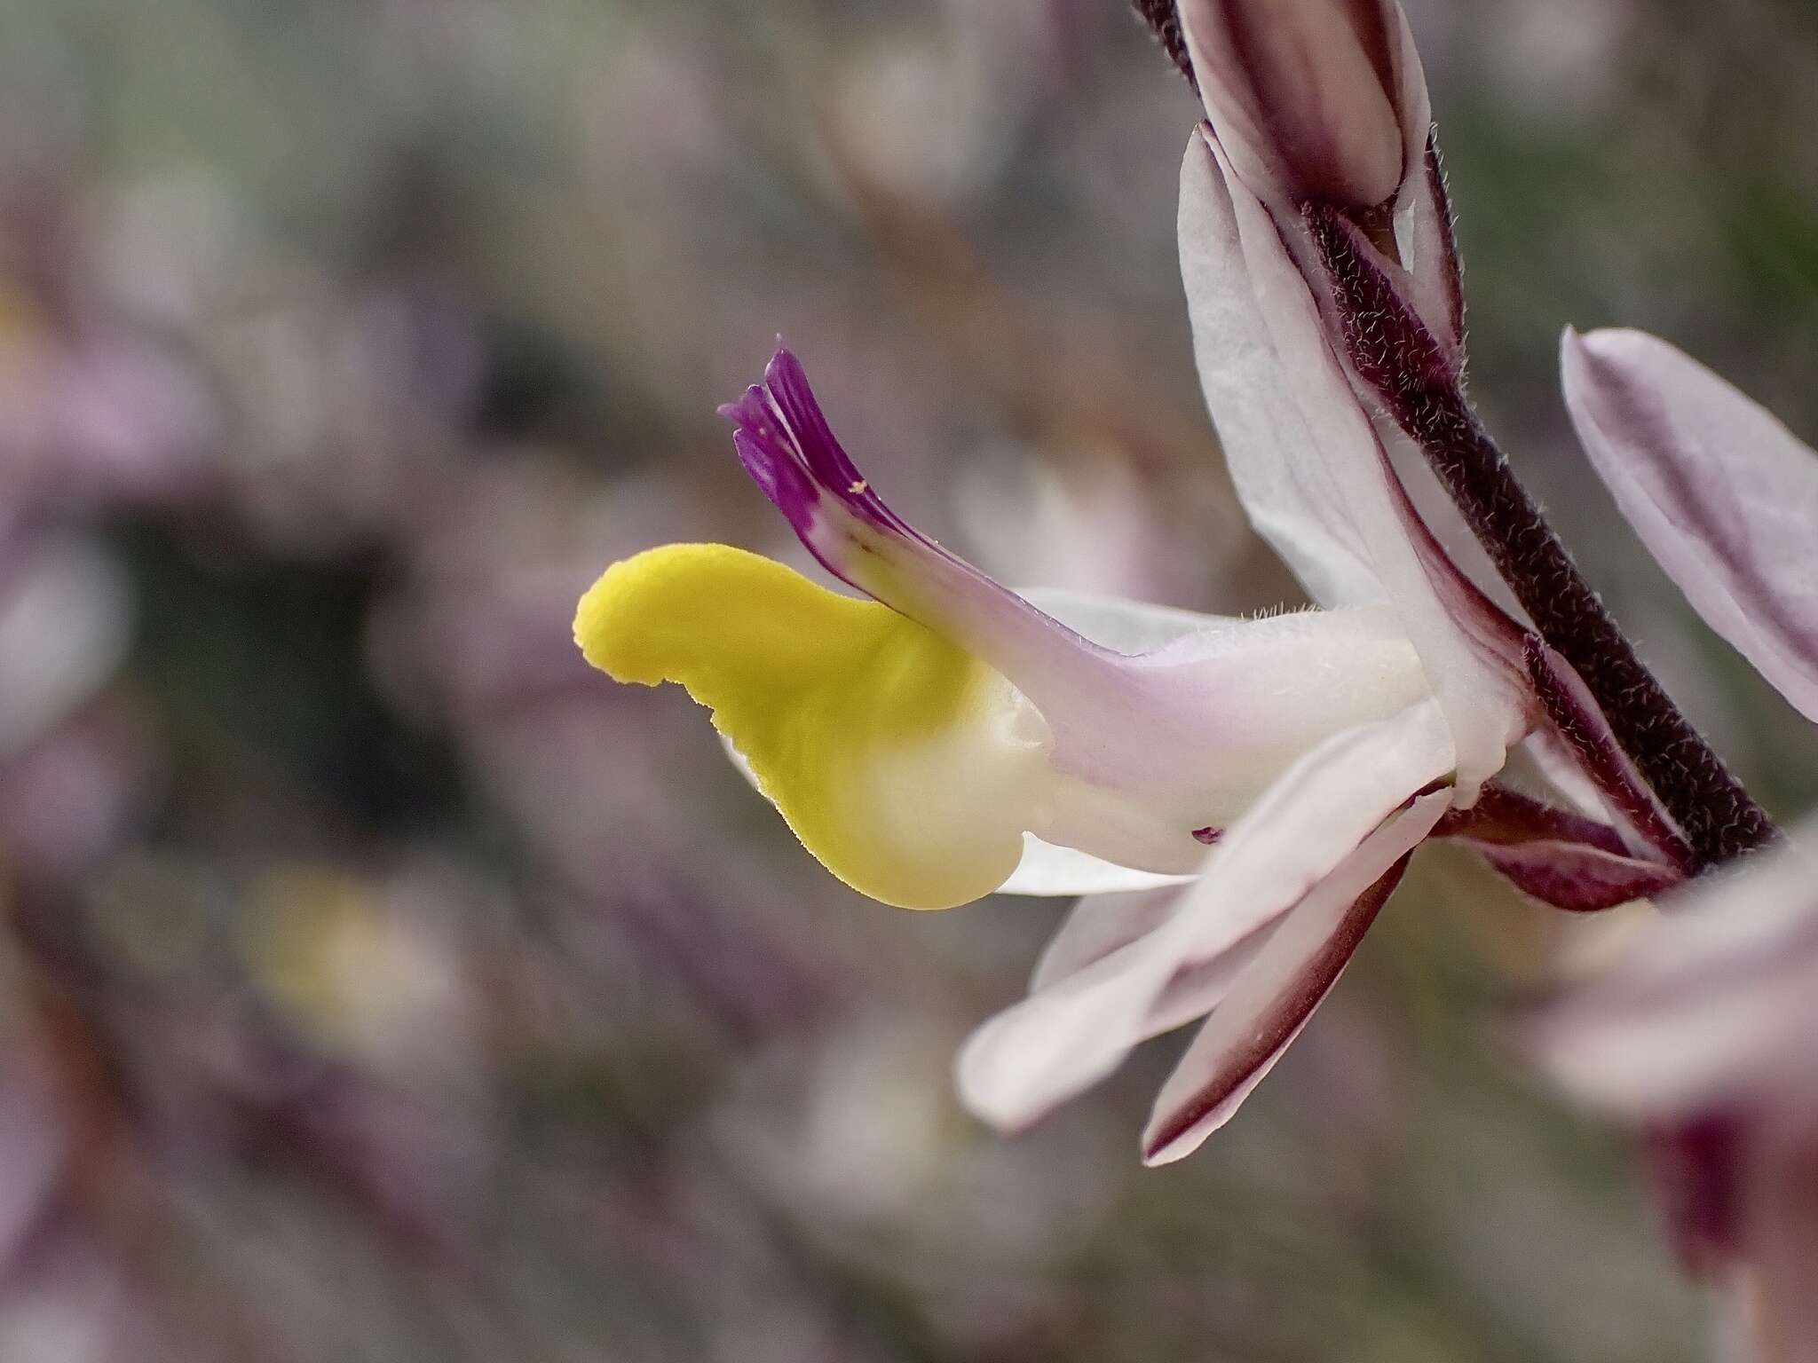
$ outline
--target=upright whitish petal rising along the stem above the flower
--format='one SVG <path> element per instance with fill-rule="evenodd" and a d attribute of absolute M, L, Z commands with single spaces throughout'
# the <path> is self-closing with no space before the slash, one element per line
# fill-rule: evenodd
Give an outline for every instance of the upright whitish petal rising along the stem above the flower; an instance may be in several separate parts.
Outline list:
<path fill-rule="evenodd" d="M 1280 231 L 1204 125 L 1182 165 L 1180 256 L 1200 380 L 1245 511 L 1322 603 L 1394 609 L 1453 727 L 1469 801 L 1527 725 L 1507 622 L 1420 525 Z"/>

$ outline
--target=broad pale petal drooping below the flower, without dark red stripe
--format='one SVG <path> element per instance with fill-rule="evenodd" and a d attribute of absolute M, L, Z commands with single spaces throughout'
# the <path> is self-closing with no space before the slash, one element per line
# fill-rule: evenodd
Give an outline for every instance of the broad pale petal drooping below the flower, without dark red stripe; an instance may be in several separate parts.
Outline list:
<path fill-rule="evenodd" d="M 1431 700 L 1309 752 L 1231 827 L 1178 914 L 974 1032 L 958 1063 L 965 1105 L 993 1125 L 1020 1129 L 1102 1079 L 1156 1032 L 1158 1018 L 1182 1020 L 1160 1012 L 1171 981 L 1278 921 L 1451 765 L 1445 721 Z"/>

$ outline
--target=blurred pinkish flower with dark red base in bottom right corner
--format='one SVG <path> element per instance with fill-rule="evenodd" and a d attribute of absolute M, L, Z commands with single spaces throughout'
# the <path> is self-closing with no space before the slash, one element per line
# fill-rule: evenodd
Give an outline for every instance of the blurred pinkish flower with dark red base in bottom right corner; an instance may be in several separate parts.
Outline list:
<path fill-rule="evenodd" d="M 1700 881 L 1536 1025 L 1542 1063 L 1653 1134 L 1691 1267 L 1763 1363 L 1818 1359 L 1818 823 Z"/>

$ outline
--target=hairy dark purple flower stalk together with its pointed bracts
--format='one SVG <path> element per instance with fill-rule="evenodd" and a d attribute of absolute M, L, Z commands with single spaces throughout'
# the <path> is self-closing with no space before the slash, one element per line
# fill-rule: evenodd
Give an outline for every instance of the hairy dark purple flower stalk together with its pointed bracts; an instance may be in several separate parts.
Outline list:
<path fill-rule="evenodd" d="M 1174 0 L 1134 4 L 1198 87 Z M 1336 347 L 1425 454 L 1527 612 L 1543 643 L 1527 651 L 1534 692 L 1613 807 L 1687 874 L 1771 843 L 1773 821 L 1640 660 L 1465 398 L 1458 262 L 1431 136 L 1422 164 L 1405 173 L 1422 178 L 1440 238 L 1416 274 L 1394 258 L 1380 213 L 1305 185 L 1294 194 L 1298 222 L 1276 213 L 1284 240 L 1311 245 L 1304 267 L 1316 276 Z M 1414 302 L 1423 294 L 1429 305 Z M 1562 682 L 1560 663 L 1582 691 Z M 1607 751 L 1611 736 L 1618 752 Z"/>

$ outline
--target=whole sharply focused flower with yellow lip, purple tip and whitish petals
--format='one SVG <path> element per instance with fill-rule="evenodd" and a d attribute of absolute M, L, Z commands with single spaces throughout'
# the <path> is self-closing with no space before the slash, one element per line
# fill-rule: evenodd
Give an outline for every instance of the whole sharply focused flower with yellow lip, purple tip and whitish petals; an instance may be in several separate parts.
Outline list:
<path fill-rule="evenodd" d="M 1224 204 L 1214 236 L 1234 260 L 1229 200 L 1193 165 L 1189 216 Z M 682 682 L 709 705 L 804 845 L 873 898 L 940 909 L 998 889 L 1082 894 L 1204 861 L 1160 921 L 1114 914 L 1056 943 L 1036 992 L 960 1060 L 967 1103 L 1020 1127 L 1209 1012 L 1158 1101 L 1153 1161 L 1229 1119 L 1407 854 L 1474 801 L 1454 781 L 1462 727 L 1500 763 L 1529 725 L 1493 647 L 1513 627 L 1456 572 L 1440 596 L 1385 465 L 1373 483 L 1327 471 L 1318 451 L 1333 440 L 1374 440 L 1336 363 L 1331 387 L 1293 400 L 1251 294 L 1189 267 L 1196 285 L 1211 309 L 1196 323 L 1222 338 L 1207 369 L 1222 360 L 1220 382 L 1262 387 L 1276 418 L 1245 425 L 1264 413 L 1234 403 L 1251 514 L 1333 609 L 1234 622 L 1009 592 L 878 498 L 778 351 L 765 383 L 725 409 L 740 460 L 820 563 L 874 600 L 738 549 L 669 545 L 607 569 L 576 616 L 596 667 Z M 1214 333 L 1218 309 L 1229 325 Z"/>

